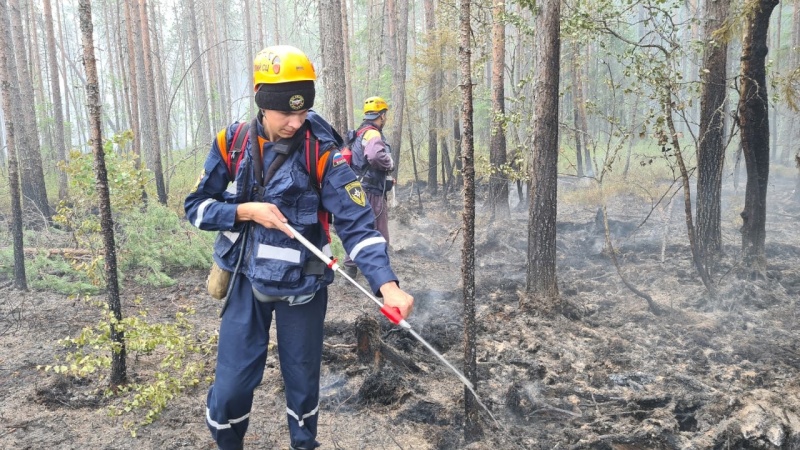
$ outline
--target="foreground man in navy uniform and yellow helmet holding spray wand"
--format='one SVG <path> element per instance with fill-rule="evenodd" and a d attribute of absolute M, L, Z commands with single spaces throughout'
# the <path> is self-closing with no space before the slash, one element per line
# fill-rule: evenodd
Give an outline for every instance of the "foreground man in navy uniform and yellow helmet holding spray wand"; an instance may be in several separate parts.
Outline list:
<path fill-rule="evenodd" d="M 243 448 L 275 314 L 291 448 L 313 449 L 319 446 L 322 330 L 333 272 L 320 266 L 284 224 L 330 255 L 327 224 L 320 220 L 325 216 L 319 211 L 333 214 L 345 250 L 384 304 L 398 308 L 405 318 L 414 299 L 398 286 L 386 241 L 374 228 L 373 212 L 360 183 L 338 152 L 333 129 L 309 110 L 314 103 L 316 74 L 306 55 L 291 46 L 268 47 L 256 56 L 253 76 L 260 112 L 251 125 L 257 133 L 250 137 L 257 134 L 257 144 L 253 145 L 254 139 L 247 141 L 240 164 L 232 167 L 232 177 L 226 158 L 238 124 L 220 131 L 184 205 L 196 227 L 220 231 L 214 260 L 235 272 L 220 324 L 216 378 L 208 392 L 206 422 L 219 448 Z M 317 167 L 322 174 L 316 188 L 304 146 L 310 142 L 309 135 L 316 138 L 319 148 L 331 148 L 319 158 Z M 263 156 L 254 158 L 259 147 Z M 288 153 L 288 158 L 260 187 L 255 181 L 254 160 L 261 160 L 266 174 L 279 153 Z"/>

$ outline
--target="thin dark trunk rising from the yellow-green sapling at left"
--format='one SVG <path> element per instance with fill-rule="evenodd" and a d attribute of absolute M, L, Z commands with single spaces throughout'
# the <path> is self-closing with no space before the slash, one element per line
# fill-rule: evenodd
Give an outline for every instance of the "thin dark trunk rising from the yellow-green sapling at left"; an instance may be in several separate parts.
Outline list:
<path fill-rule="evenodd" d="M 103 153 L 103 136 L 101 125 L 100 88 L 97 83 L 97 66 L 94 58 L 94 42 L 92 39 L 92 7 L 90 0 L 80 0 L 81 34 L 83 37 L 83 62 L 86 66 L 86 95 L 89 108 L 91 128 L 91 145 L 94 152 L 95 176 L 97 177 L 97 193 L 100 204 L 100 226 L 103 230 L 105 247 L 106 289 L 108 290 L 108 307 L 114 314 L 116 322 L 122 320 L 122 307 L 119 298 L 119 282 L 117 280 L 117 253 L 114 243 L 114 223 L 111 218 L 111 197 L 108 191 L 108 175 L 106 173 L 105 154 Z M 125 368 L 125 333 L 117 329 L 114 322 L 109 324 L 111 340 L 114 347 L 111 353 L 111 386 L 119 386 L 126 382 Z"/>

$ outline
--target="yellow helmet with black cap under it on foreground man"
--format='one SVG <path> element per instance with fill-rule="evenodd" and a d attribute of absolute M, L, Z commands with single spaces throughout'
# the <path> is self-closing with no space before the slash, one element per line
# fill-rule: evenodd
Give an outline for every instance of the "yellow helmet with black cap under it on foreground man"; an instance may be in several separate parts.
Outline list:
<path fill-rule="evenodd" d="M 316 80 L 314 65 L 291 45 L 267 47 L 253 61 L 255 101 L 261 109 L 292 112 L 311 108 Z"/>

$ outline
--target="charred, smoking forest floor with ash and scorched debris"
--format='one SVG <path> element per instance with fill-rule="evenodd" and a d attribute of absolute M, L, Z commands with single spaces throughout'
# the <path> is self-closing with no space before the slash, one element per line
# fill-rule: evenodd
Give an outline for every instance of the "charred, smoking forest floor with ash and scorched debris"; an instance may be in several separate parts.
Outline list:
<path fill-rule="evenodd" d="M 483 437 L 469 444 L 458 379 L 337 280 L 323 355 L 322 449 L 800 449 L 800 208 L 792 188 L 791 180 L 770 186 L 765 280 L 737 275 L 744 188 L 724 202 L 726 256 L 713 274 L 715 299 L 691 264 L 680 194 L 674 206 L 652 211 L 639 198 L 611 201 L 623 274 L 652 297 L 659 315 L 625 287 L 604 252 L 597 205 L 566 201 L 559 204 L 557 258 L 559 290 L 570 307 L 553 315 L 521 308 L 527 211 L 492 221 L 478 208 L 477 392 L 496 421 L 482 413 Z M 578 189 L 569 180 L 559 186 L 563 196 Z M 419 213 L 416 196 L 401 197 L 391 210 L 392 258 L 402 287 L 416 298 L 408 321 L 462 367 L 461 217 L 448 212 L 460 204 L 447 208 L 427 198 Z M 136 296 L 151 318 L 193 307 L 189 320 L 214 333 L 221 305 L 205 293 L 205 276 L 175 275 L 179 283 L 164 289 L 126 287 L 123 311 L 138 308 Z M 207 383 L 171 400 L 132 437 L 124 417 L 108 414 L 115 400 L 97 395 L 97 380 L 37 369 L 65 354 L 58 338 L 100 319 L 97 308 L 4 286 L 0 448 L 215 448 L 204 424 Z M 359 362 L 354 324 L 362 315 L 380 321 L 384 342 L 416 367 L 387 361 L 376 370 Z M 208 362 L 213 368 L 213 356 Z M 153 365 L 152 356 L 130 357 L 129 375 L 144 377 Z M 288 448 L 284 408 L 270 351 L 245 448 Z"/>

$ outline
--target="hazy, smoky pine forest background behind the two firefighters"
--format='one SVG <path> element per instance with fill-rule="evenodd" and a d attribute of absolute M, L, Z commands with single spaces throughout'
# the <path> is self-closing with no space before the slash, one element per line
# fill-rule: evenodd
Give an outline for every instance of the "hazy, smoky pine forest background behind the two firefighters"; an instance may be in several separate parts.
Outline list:
<path fill-rule="evenodd" d="M 800 204 L 800 0 L 0 0 L 0 274 L 20 291 L 105 298 L 104 319 L 66 345 L 108 353 L 69 352 L 42 370 L 121 386 L 126 345 L 207 354 L 213 336 L 179 341 L 167 329 L 182 316 L 150 324 L 120 296 L 209 266 L 213 233 L 185 223 L 183 199 L 215 133 L 255 113 L 251 62 L 272 44 L 308 54 L 315 110 L 342 135 L 366 97 L 389 101 L 397 214 L 460 215 L 473 381 L 476 222 L 525 212 L 520 305 L 551 314 L 569 308 L 556 270 L 562 204 L 598 211 L 619 271 L 609 201 L 652 213 L 674 198 L 712 299 L 722 273 L 770 277 L 773 178 Z M 733 236 L 723 186 L 736 196 Z M 151 408 L 145 422 L 201 383 L 207 366 L 184 353 L 169 378 L 182 381 L 132 407 Z M 469 436 L 478 412 L 465 395 Z"/>

